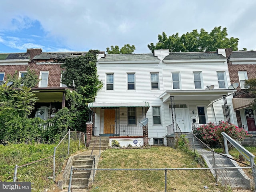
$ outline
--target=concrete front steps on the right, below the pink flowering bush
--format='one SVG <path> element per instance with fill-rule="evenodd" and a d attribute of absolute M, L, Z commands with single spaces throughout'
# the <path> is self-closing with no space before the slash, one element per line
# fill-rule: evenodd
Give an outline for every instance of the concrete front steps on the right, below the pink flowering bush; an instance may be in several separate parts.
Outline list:
<path fill-rule="evenodd" d="M 188 138 L 190 149 L 195 149 L 198 154 L 204 158 L 204 161 L 209 168 L 240 167 L 236 161 L 230 159 L 232 157 L 228 154 L 223 154 L 223 156 L 214 153 L 213 156 L 212 151 L 206 150 L 207 148 L 195 137 L 193 140 L 193 135 L 191 133 L 186 134 L 186 138 Z M 252 186 L 252 180 L 248 178 L 242 169 L 211 169 L 210 171 L 215 178 L 217 176 L 218 182 L 223 186 L 229 185 L 232 189 L 250 189 Z"/>

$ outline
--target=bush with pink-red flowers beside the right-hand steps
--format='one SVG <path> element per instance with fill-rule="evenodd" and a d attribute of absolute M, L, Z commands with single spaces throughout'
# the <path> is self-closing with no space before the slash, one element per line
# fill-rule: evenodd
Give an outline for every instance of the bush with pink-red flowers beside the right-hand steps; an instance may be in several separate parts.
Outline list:
<path fill-rule="evenodd" d="M 224 140 L 221 132 L 225 132 L 236 141 L 242 141 L 245 137 L 251 136 L 243 128 L 239 128 L 234 124 L 228 124 L 228 122 L 219 122 L 218 124 L 209 123 L 202 125 L 195 130 L 195 134 L 198 134 L 200 140 L 210 146 L 220 144 L 224 149 Z M 228 146 L 229 150 L 232 148 Z"/>

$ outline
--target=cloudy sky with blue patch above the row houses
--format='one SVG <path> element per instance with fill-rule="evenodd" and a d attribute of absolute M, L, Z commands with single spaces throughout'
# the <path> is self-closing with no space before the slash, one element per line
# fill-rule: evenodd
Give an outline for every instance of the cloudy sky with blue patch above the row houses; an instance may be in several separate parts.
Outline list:
<path fill-rule="evenodd" d="M 238 49 L 256 50 L 255 0 L 1 0 L 0 53 L 106 51 L 135 45 L 150 53 L 158 34 L 226 27 Z"/>

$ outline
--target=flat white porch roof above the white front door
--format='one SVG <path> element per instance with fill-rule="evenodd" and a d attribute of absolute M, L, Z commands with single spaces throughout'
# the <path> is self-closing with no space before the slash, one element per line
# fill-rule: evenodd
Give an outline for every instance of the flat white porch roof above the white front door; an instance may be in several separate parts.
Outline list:
<path fill-rule="evenodd" d="M 163 102 L 168 102 L 170 96 L 174 96 L 175 101 L 209 101 L 222 98 L 224 95 L 232 94 L 236 90 L 168 90 L 160 95 Z"/>

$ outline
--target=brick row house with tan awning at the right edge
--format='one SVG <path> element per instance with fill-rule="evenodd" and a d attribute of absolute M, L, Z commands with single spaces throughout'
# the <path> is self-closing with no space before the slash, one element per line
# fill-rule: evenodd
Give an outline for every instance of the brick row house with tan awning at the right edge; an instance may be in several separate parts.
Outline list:
<path fill-rule="evenodd" d="M 232 51 L 226 49 L 230 82 L 238 83 L 234 93 L 233 106 L 238 126 L 251 134 L 256 134 L 256 114 L 250 107 L 254 98 L 246 92 L 245 80 L 256 78 L 256 51 Z"/>

